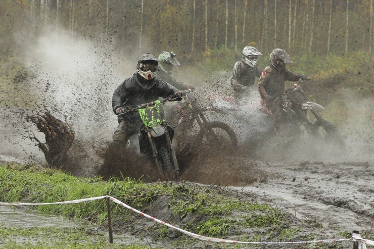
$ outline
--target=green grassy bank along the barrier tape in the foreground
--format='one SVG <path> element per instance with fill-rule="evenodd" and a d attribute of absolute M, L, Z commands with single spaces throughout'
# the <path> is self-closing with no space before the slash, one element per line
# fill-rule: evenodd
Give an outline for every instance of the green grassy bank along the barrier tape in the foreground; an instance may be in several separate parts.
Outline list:
<path fill-rule="evenodd" d="M 155 202 L 167 200 L 163 204 L 170 209 L 170 216 L 166 217 L 166 222 L 170 221 L 171 224 L 182 229 L 209 237 L 239 237 L 250 241 L 258 241 L 257 238 L 289 240 L 297 232 L 305 233 L 314 225 L 297 223 L 291 219 L 290 214 L 285 214 L 267 204 L 258 204 L 248 196 L 242 197 L 243 200 L 240 196 L 232 197 L 216 186 L 203 187 L 196 184 L 191 186 L 183 182 L 146 184 L 128 178 L 103 181 L 100 178 L 77 178 L 40 165 L 16 163 L 5 163 L 0 166 L 0 182 L 0 202 L 61 202 L 108 194 L 133 208 L 148 213 Z M 147 236 L 161 243 L 167 240 L 170 244 L 180 245 L 183 241 L 183 246 L 192 248 L 194 243 L 197 243 L 196 239 L 134 215 L 132 211 L 115 203 L 111 202 L 110 205 L 113 227 L 117 229 L 115 234 L 120 233 L 118 229 L 122 228 L 125 229 L 125 233 L 134 233 L 135 236 L 142 238 L 144 230 Z M 69 216 L 75 220 L 89 220 L 95 226 L 106 227 L 107 224 L 107 208 L 103 200 L 32 207 L 44 213 Z M 158 218 L 157 213 L 155 216 Z M 134 224 L 145 220 L 146 223 L 143 225 L 137 225 L 143 229 L 133 230 Z M 183 222 L 178 225 L 180 221 Z M 248 233 L 247 229 L 253 232 Z M 0 234 L 2 234 L 0 245 L 4 248 L 59 248 L 62 244 L 64 248 L 149 248 L 136 243 L 132 245 L 133 247 L 116 247 L 117 245 L 110 247 L 112 245 L 108 244 L 107 228 L 92 232 L 88 227 L 2 227 Z M 17 239 L 19 237 L 26 239 L 20 241 Z M 46 244 L 44 241 L 48 241 L 48 237 L 56 239 Z"/>

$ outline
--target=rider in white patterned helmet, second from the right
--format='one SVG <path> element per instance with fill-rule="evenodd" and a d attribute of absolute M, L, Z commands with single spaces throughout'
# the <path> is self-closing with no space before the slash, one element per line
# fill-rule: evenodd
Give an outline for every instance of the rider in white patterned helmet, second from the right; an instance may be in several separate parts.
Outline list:
<path fill-rule="evenodd" d="M 255 83 L 255 78 L 260 77 L 261 69 L 257 67 L 257 59 L 262 54 L 253 46 L 246 46 L 242 51 L 242 61 L 235 63 L 230 83 L 236 92 L 242 95 L 244 90 Z"/>

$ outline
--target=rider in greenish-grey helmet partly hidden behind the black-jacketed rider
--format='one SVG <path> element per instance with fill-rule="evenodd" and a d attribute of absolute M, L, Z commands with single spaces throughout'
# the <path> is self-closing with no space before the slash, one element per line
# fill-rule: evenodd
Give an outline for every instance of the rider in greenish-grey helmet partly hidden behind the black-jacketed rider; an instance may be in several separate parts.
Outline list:
<path fill-rule="evenodd" d="M 166 82 L 168 82 L 169 84 L 171 84 L 172 86 L 175 86 L 176 88 L 180 90 L 195 89 L 191 85 L 178 82 L 171 76 L 171 74 L 173 73 L 173 68 L 175 66 L 180 66 L 180 63 L 176 59 L 176 55 L 174 52 L 163 51 L 159 55 L 157 60 L 159 61 L 159 67 L 160 67 L 160 70 L 157 73 L 157 77 L 159 79 L 165 80 Z"/>

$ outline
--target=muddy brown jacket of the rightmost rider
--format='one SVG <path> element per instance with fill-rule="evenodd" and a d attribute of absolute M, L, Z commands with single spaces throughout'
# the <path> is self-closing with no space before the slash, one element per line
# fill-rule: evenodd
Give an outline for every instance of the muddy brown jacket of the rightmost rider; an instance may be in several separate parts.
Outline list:
<path fill-rule="evenodd" d="M 273 99 L 285 90 L 285 81 L 298 81 L 300 75 L 294 74 L 293 72 L 282 69 L 277 70 L 273 66 L 268 66 L 262 71 L 260 81 L 258 82 L 258 89 L 262 98 L 262 103 L 266 103 L 268 97 L 273 97 Z M 272 99 L 272 100 L 273 100 Z"/>

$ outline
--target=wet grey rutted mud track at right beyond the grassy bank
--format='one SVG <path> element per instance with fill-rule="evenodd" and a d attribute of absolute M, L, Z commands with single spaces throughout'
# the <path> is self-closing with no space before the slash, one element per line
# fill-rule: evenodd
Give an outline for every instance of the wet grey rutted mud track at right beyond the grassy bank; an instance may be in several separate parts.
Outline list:
<path fill-rule="evenodd" d="M 263 180 L 246 187 L 258 201 L 299 219 L 313 219 L 325 228 L 347 231 L 374 226 L 374 170 L 367 162 L 257 164 Z"/>

